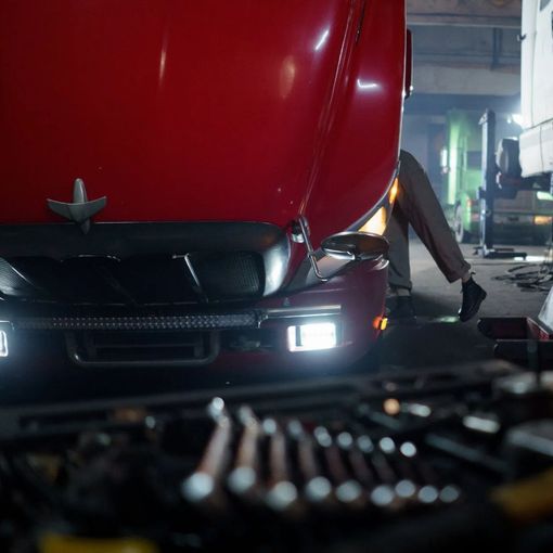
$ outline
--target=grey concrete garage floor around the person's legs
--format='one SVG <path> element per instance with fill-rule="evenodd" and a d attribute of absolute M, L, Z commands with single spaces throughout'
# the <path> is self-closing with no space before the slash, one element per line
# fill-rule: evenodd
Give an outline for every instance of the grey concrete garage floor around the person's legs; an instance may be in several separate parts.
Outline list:
<path fill-rule="evenodd" d="M 509 247 L 500 245 L 498 248 Z M 513 280 L 514 272 L 549 272 L 550 265 L 540 261 L 546 246 L 511 246 L 526 252 L 527 261 L 515 259 L 483 259 L 475 246 L 463 245 L 465 258 L 473 266 L 475 280 L 488 293 L 479 312 L 465 323 L 456 318 L 461 304 L 461 284 L 449 284 L 437 269 L 419 240 L 411 243 L 413 301 L 420 322 L 414 326 L 394 325 L 385 331 L 382 369 L 423 369 L 493 359 L 493 340 L 477 330 L 479 317 L 528 316 L 537 318 L 546 291 L 524 290 Z M 520 268 L 520 269 L 517 269 Z M 512 271 L 509 273 L 509 271 Z M 539 276 L 539 272 L 536 272 Z M 546 283 L 544 284 L 546 288 Z M 449 321 L 449 322 L 443 322 Z"/>

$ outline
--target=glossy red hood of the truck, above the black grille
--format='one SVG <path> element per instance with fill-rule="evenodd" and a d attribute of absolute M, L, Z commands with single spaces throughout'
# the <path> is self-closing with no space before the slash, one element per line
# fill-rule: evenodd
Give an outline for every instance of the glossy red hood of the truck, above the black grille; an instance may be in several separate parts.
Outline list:
<path fill-rule="evenodd" d="M 384 3 L 401 33 L 402 2 Z M 319 237 L 343 230 L 397 158 L 402 44 L 382 43 L 396 30 L 374 4 L 2 2 L 0 222 L 63 220 L 47 198 L 69 202 L 80 178 L 107 197 L 97 221 L 284 227 L 307 213 Z M 382 57 L 366 69 L 361 24 L 358 48 Z M 376 119 L 360 130 L 363 94 Z"/>

